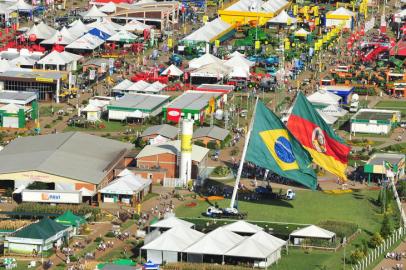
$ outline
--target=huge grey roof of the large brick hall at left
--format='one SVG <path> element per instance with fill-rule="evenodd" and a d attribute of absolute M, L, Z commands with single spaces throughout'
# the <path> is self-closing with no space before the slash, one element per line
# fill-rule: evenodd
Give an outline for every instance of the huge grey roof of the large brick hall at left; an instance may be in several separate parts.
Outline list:
<path fill-rule="evenodd" d="M 80 132 L 17 138 L 0 151 L 0 174 L 39 171 L 99 184 L 131 144 Z"/>

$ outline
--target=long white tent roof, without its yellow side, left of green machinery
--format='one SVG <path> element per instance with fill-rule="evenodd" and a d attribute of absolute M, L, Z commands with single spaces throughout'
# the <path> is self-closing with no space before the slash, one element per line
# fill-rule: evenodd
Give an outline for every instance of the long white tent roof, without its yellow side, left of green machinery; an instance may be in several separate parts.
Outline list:
<path fill-rule="evenodd" d="M 217 37 L 230 27 L 231 24 L 223 21 L 220 18 L 217 18 L 211 22 L 206 23 L 190 35 L 183 38 L 183 40 L 210 42 L 213 38 Z"/>

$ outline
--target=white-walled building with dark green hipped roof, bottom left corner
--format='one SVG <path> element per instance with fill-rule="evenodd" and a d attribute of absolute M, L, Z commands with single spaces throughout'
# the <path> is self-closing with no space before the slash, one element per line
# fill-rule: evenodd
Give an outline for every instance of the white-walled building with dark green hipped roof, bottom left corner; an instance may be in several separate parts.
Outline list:
<path fill-rule="evenodd" d="M 14 234 L 6 236 L 4 252 L 7 254 L 32 254 L 52 249 L 53 245 L 62 244 L 63 238 L 67 237 L 70 226 L 64 226 L 58 222 L 43 218 L 39 222 L 32 223 Z"/>

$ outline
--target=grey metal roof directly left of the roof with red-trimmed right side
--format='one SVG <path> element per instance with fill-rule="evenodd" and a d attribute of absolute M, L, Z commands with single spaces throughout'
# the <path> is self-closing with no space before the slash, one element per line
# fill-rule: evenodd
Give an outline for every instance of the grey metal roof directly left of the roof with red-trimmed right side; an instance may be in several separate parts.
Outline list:
<path fill-rule="evenodd" d="M 169 96 L 165 95 L 130 94 L 112 101 L 111 106 L 139 110 L 154 110 L 167 100 L 169 100 Z"/>

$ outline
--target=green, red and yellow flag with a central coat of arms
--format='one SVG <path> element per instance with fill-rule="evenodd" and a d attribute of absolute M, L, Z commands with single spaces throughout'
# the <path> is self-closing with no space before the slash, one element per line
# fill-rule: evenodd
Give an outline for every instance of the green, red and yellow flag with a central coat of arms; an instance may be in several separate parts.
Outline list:
<path fill-rule="evenodd" d="M 347 179 L 345 171 L 350 147 L 326 124 L 301 92 L 296 97 L 287 127 L 317 165 L 343 180 Z"/>

